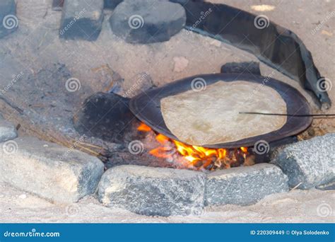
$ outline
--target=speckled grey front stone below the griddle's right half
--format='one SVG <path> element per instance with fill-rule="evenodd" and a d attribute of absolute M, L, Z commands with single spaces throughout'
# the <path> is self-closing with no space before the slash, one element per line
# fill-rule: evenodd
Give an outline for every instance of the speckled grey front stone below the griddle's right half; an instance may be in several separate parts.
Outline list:
<path fill-rule="evenodd" d="M 205 204 L 245 206 L 278 192 L 288 192 L 288 178 L 278 166 L 260 163 L 208 174 Z"/>

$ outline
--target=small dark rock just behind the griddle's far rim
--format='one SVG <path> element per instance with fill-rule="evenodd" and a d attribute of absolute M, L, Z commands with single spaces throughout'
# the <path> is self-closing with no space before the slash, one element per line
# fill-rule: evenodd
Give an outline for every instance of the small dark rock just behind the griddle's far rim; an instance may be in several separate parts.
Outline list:
<path fill-rule="evenodd" d="M 254 74 L 261 76 L 259 62 L 229 62 L 221 67 L 221 73 Z"/>

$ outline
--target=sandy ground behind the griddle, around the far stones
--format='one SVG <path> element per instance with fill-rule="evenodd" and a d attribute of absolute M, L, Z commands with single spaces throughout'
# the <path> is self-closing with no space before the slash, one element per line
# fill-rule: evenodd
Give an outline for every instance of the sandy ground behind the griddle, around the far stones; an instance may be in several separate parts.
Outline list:
<path fill-rule="evenodd" d="M 122 76 L 126 86 L 131 86 L 136 81 L 134 78 L 143 71 L 151 76 L 157 86 L 161 86 L 187 76 L 218 73 L 221 66 L 227 62 L 258 61 L 252 54 L 211 38 L 188 34 L 186 30 L 182 30 L 168 42 L 151 45 L 128 44 L 113 35 L 110 30 L 108 23 L 112 14 L 110 11 L 105 11 L 102 32 L 97 41 L 60 40 L 58 31 L 61 12 L 52 11 L 50 2 L 51 0 L 17 1 L 20 27 L 13 35 L 0 40 L 2 61 L 2 63 L 0 61 L 0 84 L 6 86 L 11 82 L 12 75 L 22 71 L 23 78 L 6 92 L 6 96 L 15 100 L 23 110 L 31 110 L 44 117 L 54 117 L 47 121 L 59 129 L 71 129 L 61 126 L 69 123 L 82 101 L 97 91 L 108 89 L 112 83 L 112 76 L 110 69 L 105 68 L 107 64 L 112 71 Z M 265 14 L 271 21 L 293 30 L 312 52 L 321 74 L 334 83 L 335 18 L 334 16 L 329 18 L 329 13 L 334 10 L 334 0 L 216 0 L 214 2 L 230 4 L 256 14 Z M 257 9 L 255 6 L 261 4 L 273 6 L 273 9 L 254 10 Z M 315 30 L 319 23 L 324 24 L 312 35 L 312 30 Z M 60 76 L 63 81 L 45 79 L 37 83 L 38 85 L 30 85 L 41 69 L 52 71 L 50 67 L 57 63 L 64 64 L 66 69 L 69 69 L 71 77 L 81 82 L 80 90 L 66 93 L 66 78 L 63 76 Z M 275 79 L 298 88 L 310 100 L 315 112 L 317 111 L 315 103 L 300 88 L 297 81 L 283 76 L 264 64 L 261 64 L 261 74 L 264 76 L 271 74 Z M 329 96 L 335 102 L 335 88 L 331 88 Z M 46 99 L 42 99 L 45 97 L 53 104 L 52 108 L 45 105 Z M 63 103 L 59 101 L 64 99 L 66 101 Z M 331 112 L 335 113 L 335 105 L 329 110 L 329 113 Z M 16 122 L 15 117 L 17 117 L 15 113 L 6 114 L 6 118 L 13 122 Z M 315 126 L 322 127 L 323 133 L 335 132 L 334 120 L 317 120 Z"/>

